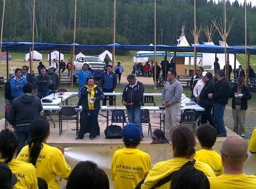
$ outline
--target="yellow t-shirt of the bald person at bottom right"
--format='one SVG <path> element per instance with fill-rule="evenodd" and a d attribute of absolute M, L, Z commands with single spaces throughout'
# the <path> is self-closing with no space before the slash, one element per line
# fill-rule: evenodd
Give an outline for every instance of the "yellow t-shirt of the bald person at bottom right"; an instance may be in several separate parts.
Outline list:
<path fill-rule="evenodd" d="M 242 174 L 223 174 L 208 178 L 211 189 L 256 189 L 256 176 Z"/>

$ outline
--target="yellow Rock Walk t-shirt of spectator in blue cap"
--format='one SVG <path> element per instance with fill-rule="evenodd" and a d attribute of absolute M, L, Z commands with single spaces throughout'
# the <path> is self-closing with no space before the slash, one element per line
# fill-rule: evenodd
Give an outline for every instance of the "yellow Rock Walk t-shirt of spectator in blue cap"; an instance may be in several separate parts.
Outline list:
<path fill-rule="evenodd" d="M 138 148 L 122 148 L 113 154 L 111 179 L 114 189 L 134 189 L 151 169 L 148 153 Z"/>

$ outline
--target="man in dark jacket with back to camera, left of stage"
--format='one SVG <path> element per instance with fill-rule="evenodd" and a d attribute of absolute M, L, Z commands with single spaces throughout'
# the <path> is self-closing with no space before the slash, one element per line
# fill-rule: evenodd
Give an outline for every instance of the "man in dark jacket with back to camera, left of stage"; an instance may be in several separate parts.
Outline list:
<path fill-rule="evenodd" d="M 33 85 L 26 83 L 23 94 L 12 101 L 8 121 L 15 126 L 15 134 L 19 140 L 19 151 L 31 140 L 30 123 L 40 115 L 43 110 L 41 100 L 35 96 Z"/>

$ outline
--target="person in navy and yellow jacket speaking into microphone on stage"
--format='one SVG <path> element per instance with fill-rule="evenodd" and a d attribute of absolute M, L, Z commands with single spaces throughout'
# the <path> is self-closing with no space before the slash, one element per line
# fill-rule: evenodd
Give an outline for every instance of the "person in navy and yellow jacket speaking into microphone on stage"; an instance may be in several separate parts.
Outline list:
<path fill-rule="evenodd" d="M 78 92 L 78 97 L 82 99 L 82 112 L 80 113 L 80 130 L 75 140 L 83 139 L 85 133 L 90 133 L 90 140 L 94 140 L 99 134 L 98 115 L 100 111 L 100 101 L 104 99 L 104 94 L 100 88 L 94 84 L 94 78 L 88 77 L 87 83 Z"/>

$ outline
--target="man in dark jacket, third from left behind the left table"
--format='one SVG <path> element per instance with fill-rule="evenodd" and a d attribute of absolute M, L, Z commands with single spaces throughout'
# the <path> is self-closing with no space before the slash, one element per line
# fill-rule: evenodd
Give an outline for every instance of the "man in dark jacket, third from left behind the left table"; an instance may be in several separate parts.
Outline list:
<path fill-rule="evenodd" d="M 37 76 L 37 96 L 42 99 L 49 95 L 50 77 L 46 75 L 45 68 L 41 69 L 41 74 Z"/>

